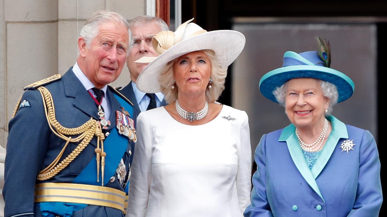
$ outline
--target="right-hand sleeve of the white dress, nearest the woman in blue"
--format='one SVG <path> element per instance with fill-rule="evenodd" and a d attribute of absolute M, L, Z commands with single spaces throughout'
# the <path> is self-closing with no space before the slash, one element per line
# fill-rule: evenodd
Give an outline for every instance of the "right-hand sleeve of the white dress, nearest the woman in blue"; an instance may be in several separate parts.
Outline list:
<path fill-rule="evenodd" d="M 236 174 L 236 191 L 241 212 L 250 204 L 251 193 L 251 146 L 250 128 L 248 126 L 248 116 L 243 111 L 241 115 L 241 125 L 239 127 L 238 138 L 238 173 Z"/>

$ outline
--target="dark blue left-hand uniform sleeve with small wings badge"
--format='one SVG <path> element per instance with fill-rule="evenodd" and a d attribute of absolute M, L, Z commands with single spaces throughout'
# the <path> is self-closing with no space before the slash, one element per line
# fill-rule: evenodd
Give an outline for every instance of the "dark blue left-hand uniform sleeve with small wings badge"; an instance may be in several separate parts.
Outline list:
<path fill-rule="evenodd" d="M 27 103 L 9 122 L 5 157 L 4 215 L 34 216 L 34 185 L 50 139 L 41 94 L 28 90 L 22 96 Z"/>

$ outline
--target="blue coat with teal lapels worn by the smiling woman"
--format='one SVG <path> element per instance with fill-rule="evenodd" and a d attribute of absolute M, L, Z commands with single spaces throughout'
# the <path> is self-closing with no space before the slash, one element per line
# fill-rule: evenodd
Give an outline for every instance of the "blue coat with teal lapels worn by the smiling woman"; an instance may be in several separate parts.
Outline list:
<path fill-rule="evenodd" d="M 332 132 L 312 170 L 293 124 L 262 136 L 245 217 L 378 216 L 382 187 L 375 139 L 369 131 L 327 119 Z M 341 146 L 348 139 L 355 145 L 347 154 Z"/>

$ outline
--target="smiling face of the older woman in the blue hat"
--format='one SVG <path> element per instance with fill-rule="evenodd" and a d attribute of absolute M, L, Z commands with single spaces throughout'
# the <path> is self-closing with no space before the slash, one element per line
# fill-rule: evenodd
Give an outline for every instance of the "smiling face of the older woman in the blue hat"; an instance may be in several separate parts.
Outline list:
<path fill-rule="evenodd" d="M 319 80 L 295 78 L 286 83 L 286 114 L 298 129 L 324 123 L 328 105 L 329 99 L 322 93 Z"/>

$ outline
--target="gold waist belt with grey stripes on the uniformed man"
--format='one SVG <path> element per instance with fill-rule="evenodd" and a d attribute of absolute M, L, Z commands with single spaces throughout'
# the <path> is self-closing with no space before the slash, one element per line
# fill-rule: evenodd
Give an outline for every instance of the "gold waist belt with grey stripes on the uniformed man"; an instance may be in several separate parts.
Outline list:
<path fill-rule="evenodd" d="M 73 183 L 40 183 L 35 185 L 34 202 L 84 203 L 112 207 L 124 212 L 125 192 L 115 188 Z"/>

